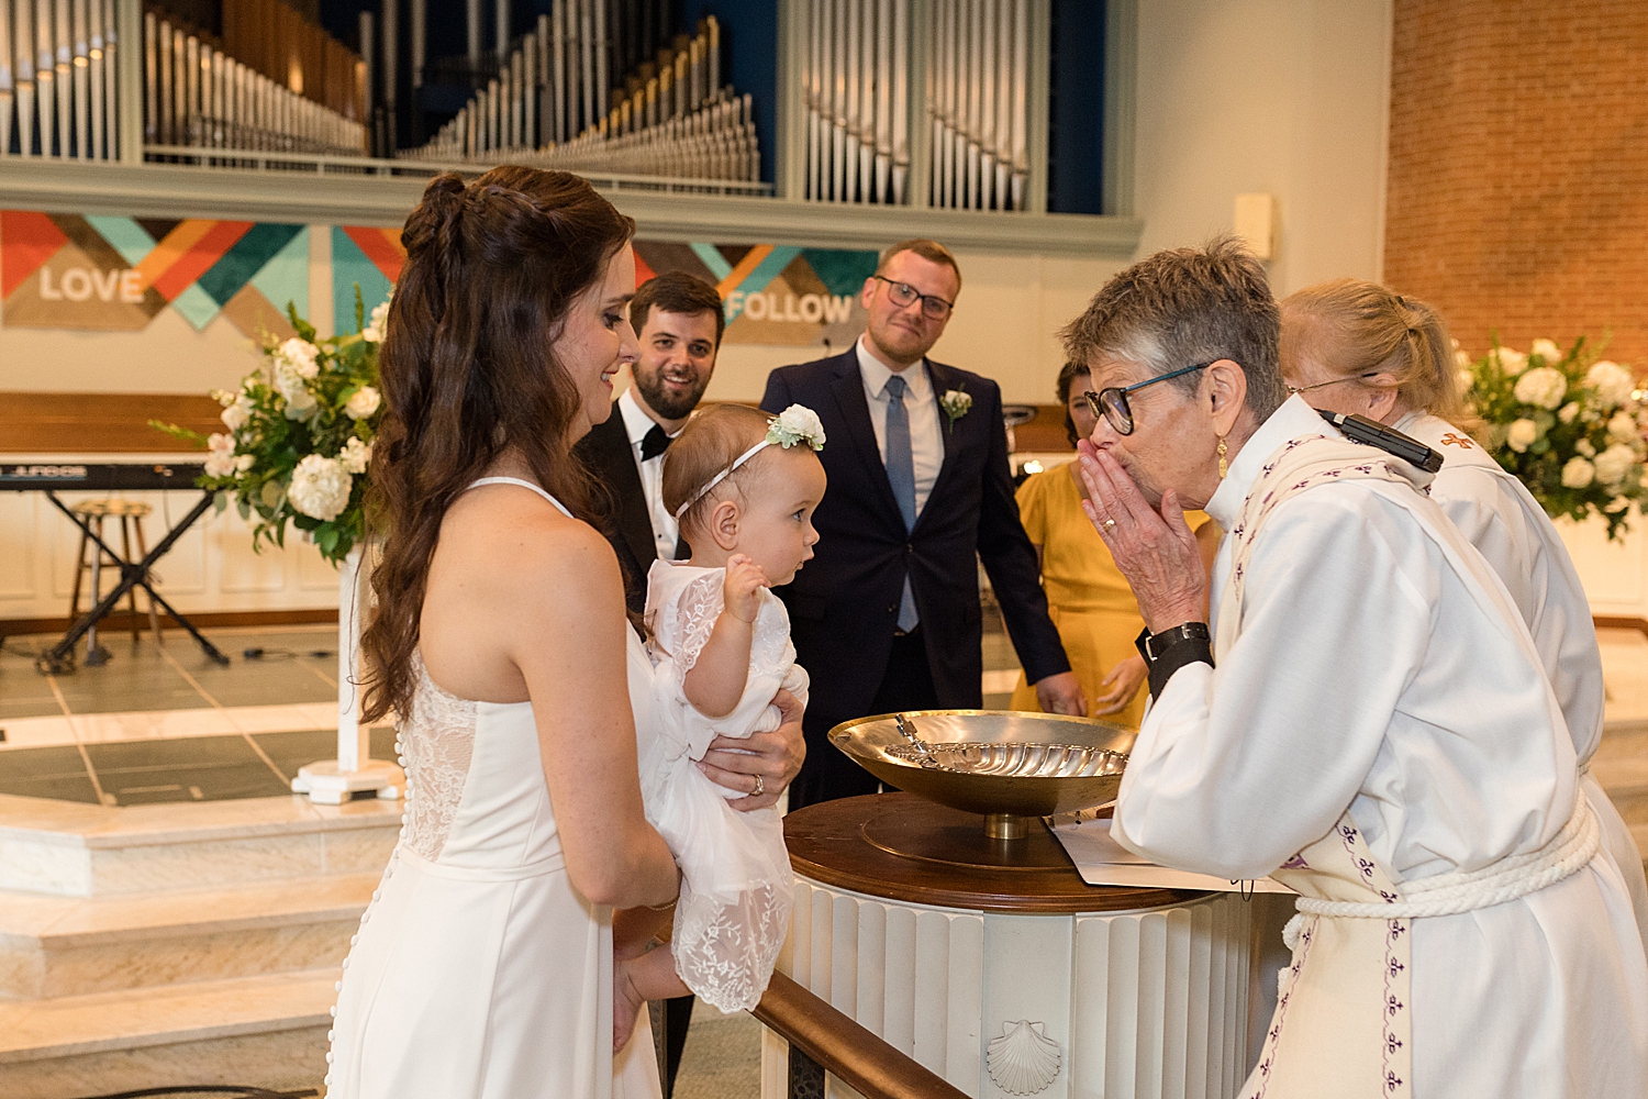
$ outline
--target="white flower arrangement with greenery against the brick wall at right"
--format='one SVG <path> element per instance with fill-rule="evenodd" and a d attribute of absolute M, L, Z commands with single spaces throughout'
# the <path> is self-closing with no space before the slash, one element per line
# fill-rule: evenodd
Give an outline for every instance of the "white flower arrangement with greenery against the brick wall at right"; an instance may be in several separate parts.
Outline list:
<path fill-rule="evenodd" d="M 1498 346 L 1460 374 L 1483 445 L 1547 514 L 1628 529 L 1630 506 L 1648 499 L 1648 400 L 1632 371 L 1597 359 L 1577 339 L 1564 351 L 1534 339 L 1526 354 Z"/>

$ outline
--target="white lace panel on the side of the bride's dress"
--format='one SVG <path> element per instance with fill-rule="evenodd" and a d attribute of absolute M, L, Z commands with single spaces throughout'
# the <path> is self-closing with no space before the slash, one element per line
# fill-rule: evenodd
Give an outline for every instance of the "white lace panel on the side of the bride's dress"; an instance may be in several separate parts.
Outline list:
<path fill-rule="evenodd" d="M 407 769 L 409 849 L 435 862 L 458 816 L 475 753 L 475 704 L 442 690 L 417 661 L 412 715 L 400 723 L 400 755 Z"/>

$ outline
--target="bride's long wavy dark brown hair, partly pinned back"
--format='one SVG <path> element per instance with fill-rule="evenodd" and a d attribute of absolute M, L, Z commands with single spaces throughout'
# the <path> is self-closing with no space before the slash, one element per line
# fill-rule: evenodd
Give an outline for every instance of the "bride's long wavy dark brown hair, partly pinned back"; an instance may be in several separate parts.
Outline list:
<path fill-rule="evenodd" d="M 410 712 L 440 521 L 504 450 L 590 517 L 590 479 L 569 438 L 580 395 L 554 341 L 633 234 L 634 221 L 578 176 L 521 166 L 470 185 L 437 176 L 407 217 L 407 262 L 379 353 L 384 419 L 369 514 L 382 557 L 377 611 L 361 636 L 364 720 Z"/>

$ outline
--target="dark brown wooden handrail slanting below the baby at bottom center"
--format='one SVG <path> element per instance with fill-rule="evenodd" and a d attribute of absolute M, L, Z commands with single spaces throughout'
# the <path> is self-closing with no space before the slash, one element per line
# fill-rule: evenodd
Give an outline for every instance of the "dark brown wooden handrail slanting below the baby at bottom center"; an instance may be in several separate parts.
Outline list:
<path fill-rule="evenodd" d="M 966 1092 L 911 1061 L 784 974 L 773 974 L 750 1012 L 865 1099 L 964 1099 Z"/>

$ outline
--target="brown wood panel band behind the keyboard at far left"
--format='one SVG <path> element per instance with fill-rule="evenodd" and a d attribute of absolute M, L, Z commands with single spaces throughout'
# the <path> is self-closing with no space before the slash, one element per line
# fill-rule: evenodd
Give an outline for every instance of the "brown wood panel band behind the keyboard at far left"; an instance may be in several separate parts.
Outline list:
<path fill-rule="evenodd" d="M 194 448 L 150 420 L 209 435 L 224 430 L 221 414 L 204 394 L 0 392 L 0 453 L 180 453 Z"/>

